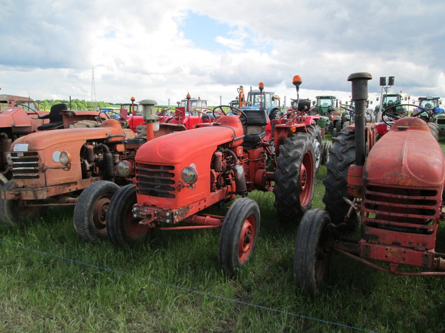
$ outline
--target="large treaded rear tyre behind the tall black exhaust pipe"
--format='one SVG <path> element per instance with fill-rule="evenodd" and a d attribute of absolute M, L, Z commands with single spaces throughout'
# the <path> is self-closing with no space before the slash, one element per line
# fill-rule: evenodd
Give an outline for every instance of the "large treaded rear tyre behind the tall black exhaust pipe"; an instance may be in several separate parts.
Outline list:
<path fill-rule="evenodd" d="M 333 137 L 332 142 L 329 161 L 326 163 L 326 178 L 323 181 L 325 185 L 323 203 L 332 223 L 339 224 L 344 221 L 350 207 L 343 197 L 352 200 L 348 195 L 346 177 L 350 165 L 355 162 L 355 133 L 347 129 L 340 132 L 337 137 Z"/>

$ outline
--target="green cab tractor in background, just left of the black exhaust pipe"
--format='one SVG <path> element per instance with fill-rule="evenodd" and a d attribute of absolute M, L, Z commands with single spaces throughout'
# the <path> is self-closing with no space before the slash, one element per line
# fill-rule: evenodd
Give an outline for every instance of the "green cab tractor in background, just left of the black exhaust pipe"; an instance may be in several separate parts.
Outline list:
<path fill-rule="evenodd" d="M 316 96 L 316 103 L 309 114 L 318 114 L 317 125 L 333 137 L 341 131 L 341 114 L 337 111 L 339 100 L 335 96 Z"/>

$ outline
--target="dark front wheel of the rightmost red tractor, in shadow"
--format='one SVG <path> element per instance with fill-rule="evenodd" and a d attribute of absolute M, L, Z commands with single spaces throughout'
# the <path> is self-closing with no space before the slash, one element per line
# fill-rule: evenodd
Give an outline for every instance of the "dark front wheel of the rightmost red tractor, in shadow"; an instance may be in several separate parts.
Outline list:
<path fill-rule="evenodd" d="M 293 254 L 293 280 L 298 287 L 312 295 L 323 287 L 329 273 L 329 223 L 329 214 L 324 210 L 309 210 L 298 227 Z"/>

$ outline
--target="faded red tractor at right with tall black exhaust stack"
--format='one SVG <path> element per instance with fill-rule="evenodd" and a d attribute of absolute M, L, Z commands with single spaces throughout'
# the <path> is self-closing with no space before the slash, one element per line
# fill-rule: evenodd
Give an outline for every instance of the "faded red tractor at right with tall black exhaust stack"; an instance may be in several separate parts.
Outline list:
<path fill-rule="evenodd" d="M 306 212 L 298 228 L 293 275 L 311 293 L 323 286 L 333 252 L 388 273 L 445 275 L 432 271 L 445 271 L 445 255 L 435 252 L 437 226 L 444 220 L 444 154 L 428 124 L 416 117 L 396 120 L 374 145 L 374 125 L 364 121 L 371 78 L 368 73 L 348 77 L 355 126 L 333 140 L 325 211 Z M 357 225 L 360 239 L 344 237 Z"/>

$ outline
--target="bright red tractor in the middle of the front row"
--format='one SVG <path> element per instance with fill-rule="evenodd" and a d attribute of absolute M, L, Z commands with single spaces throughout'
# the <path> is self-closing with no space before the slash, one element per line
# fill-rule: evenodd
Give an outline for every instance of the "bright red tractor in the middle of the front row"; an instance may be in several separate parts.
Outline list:
<path fill-rule="evenodd" d="M 297 86 L 300 80 L 294 80 Z M 134 184 L 115 193 L 106 214 L 115 246 L 142 241 L 154 228 L 221 228 L 219 263 L 233 275 L 248 262 L 259 234 L 259 207 L 245 198 L 248 192 L 273 190 L 277 212 L 288 220 L 311 207 L 315 157 L 306 126 L 275 119 L 273 142 L 267 142 L 266 110 L 237 112 L 139 148 Z M 229 200 L 225 216 L 204 212 Z"/>

